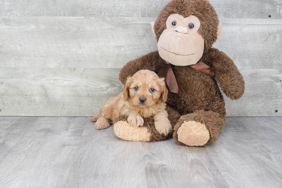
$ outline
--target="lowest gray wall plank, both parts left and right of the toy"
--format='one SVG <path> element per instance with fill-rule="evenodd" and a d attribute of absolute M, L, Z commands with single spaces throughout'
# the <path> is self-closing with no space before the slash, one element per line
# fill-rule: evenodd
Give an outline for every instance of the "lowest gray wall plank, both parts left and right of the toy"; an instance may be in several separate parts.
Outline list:
<path fill-rule="evenodd" d="M 0 68 L 0 115 L 94 116 L 122 91 L 120 69 Z M 240 69 L 243 97 L 225 97 L 226 116 L 282 116 L 282 70 Z M 275 112 L 278 110 L 278 112 Z"/>

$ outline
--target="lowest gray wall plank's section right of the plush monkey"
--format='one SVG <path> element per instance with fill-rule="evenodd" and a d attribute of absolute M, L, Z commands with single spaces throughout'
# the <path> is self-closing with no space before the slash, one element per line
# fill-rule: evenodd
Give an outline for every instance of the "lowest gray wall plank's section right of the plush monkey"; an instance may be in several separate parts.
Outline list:
<path fill-rule="evenodd" d="M 282 116 L 282 69 L 239 70 L 245 93 L 239 100 L 224 95 L 226 116 Z"/>

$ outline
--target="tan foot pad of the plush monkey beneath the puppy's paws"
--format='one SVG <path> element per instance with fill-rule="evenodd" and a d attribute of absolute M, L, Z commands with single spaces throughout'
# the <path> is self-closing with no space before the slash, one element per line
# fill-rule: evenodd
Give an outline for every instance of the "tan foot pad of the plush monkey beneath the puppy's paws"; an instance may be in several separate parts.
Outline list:
<path fill-rule="evenodd" d="M 134 127 L 127 121 L 118 121 L 114 124 L 114 132 L 123 140 L 149 142 L 151 134 L 146 127 Z"/>

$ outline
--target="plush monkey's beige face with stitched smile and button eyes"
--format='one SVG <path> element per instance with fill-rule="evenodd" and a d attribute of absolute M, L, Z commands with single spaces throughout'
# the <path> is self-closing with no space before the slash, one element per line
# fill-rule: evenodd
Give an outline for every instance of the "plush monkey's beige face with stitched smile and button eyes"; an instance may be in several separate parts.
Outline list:
<path fill-rule="evenodd" d="M 172 14 L 158 41 L 161 58 L 176 66 L 195 64 L 203 55 L 204 39 L 198 33 L 201 23 L 196 16 L 184 18 Z"/>

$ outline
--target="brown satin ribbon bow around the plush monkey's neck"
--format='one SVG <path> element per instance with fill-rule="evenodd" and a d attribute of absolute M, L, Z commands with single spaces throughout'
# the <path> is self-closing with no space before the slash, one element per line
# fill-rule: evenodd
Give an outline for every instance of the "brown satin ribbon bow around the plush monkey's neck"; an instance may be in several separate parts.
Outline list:
<path fill-rule="evenodd" d="M 162 59 L 163 64 L 168 64 L 167 65 L 167 72 L 166 72 L 166 76 L 165 76 L 165 81 L 167 83 L 167 86 L 169 88 L 169 90 L 173 93 L 178 94 L 179 89 L 178 89 L 178 85 L 177 85 L 177 81 L 176 78 L 174 76 L 174 73 L 172 71 L 171 68 L 171 64 L 169 62 L 167 62 L 166 60 Z M 197 71 L 200 71 L 201 73 L 204 73 L 205 75 L 208 75 L 210 77 L 214 77 L 214 69 L 212 67 L 209 67 L 208 65 L 206 65 L 205 63 L 198 61 L 196 64 L 191 64 L 188 65 L 193 69 L 196 69 Z"/>

